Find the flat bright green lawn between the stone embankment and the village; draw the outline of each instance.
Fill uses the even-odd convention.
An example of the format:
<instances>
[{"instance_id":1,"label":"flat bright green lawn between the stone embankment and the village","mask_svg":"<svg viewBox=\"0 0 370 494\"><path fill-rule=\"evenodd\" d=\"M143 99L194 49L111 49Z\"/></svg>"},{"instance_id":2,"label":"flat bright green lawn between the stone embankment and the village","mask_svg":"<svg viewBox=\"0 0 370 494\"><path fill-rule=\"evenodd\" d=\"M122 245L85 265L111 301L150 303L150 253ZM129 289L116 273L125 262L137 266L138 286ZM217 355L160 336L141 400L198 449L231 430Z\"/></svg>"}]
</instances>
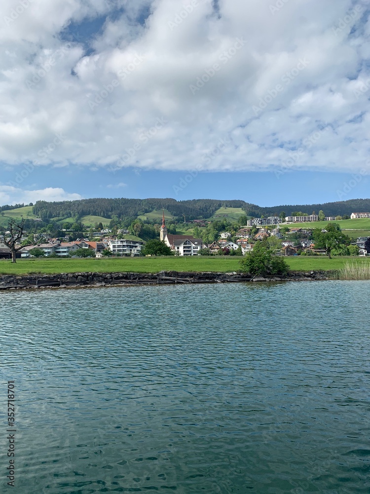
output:
<instances>
[{"instance_id":1,"label":"flat bright green lawn between the stone embankment and the village","mask_svg":"<svg viewBox=\"0 0 370 494\"><path fill-rule=\"evenodd\" d=\"M327 271L342 268L348 259L356 262L370 262L365 257L322 256L286 257L293 271ZM0 261L0 274L30 273L76 273L76 272L136 272L157 273L158 271L220 271L230 272L240 269L238 257L116 257L103 259L17 259L15 264Z\"/></svg>"}]
</instances>

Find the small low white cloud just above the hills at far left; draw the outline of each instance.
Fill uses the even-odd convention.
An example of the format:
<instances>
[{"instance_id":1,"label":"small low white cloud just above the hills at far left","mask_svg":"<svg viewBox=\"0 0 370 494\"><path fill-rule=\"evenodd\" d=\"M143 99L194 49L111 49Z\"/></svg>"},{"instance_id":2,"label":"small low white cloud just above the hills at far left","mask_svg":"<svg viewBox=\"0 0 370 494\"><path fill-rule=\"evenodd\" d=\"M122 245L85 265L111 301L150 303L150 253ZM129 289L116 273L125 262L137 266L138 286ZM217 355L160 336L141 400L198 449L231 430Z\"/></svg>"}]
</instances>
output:
<instances>
[{"instance_id":1,"label":"small low white cloud just above the hills at far left","mask_svg":"<svg viewBox=\"0 0 370 494\"><path fill-rule=\"evenodd\" d=\"M70 194L58 187L23 190L9 185L0 185L0 204L35 204L37 201L74 201L77 199L82 199L82 196Z\"/></svg>"}]
</instances>

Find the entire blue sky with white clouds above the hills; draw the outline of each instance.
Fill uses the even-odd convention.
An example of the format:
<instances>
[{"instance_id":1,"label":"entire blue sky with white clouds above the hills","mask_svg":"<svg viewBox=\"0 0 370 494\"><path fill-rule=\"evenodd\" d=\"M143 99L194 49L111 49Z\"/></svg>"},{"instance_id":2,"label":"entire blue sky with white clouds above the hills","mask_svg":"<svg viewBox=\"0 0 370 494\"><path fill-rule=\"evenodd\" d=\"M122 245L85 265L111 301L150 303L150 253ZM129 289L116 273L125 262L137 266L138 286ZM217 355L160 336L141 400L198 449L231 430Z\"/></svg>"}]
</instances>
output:
<instances>
[{"instance_id":1,"label":"entire blue sky with white clouds above the hills","mask_svg":"<svg viewBox=\"0 0 370 494\"><path fill-rule=\"evenodd\" d=\"M370 0L2 0L0 205L369 197Z\"/></svg>"}]
</instances>

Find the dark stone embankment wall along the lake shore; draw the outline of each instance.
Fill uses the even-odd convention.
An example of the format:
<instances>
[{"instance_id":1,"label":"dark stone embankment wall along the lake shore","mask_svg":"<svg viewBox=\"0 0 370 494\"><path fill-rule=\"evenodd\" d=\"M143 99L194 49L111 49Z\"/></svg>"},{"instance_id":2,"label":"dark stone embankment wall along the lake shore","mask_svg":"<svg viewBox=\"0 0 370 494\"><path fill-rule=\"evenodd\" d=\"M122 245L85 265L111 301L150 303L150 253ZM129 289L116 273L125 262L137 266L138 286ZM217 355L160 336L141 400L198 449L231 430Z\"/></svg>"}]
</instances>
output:
<instances>
[{"instance_id":1,"label":"dark stone embankment wall along the lake shore","mask_svg":"<svg viewBox=\"0 0 370 494\"><path fill-rule=\"evenodd\" d=\"M255 276L247 273L195 273L161 271L160 273L62 273L0 276L0 290L21 288L105 287L116 285L165 285L176 283L238 283L326 280L325 271L290 272L287 276Z\"/></svg>"}]
</instances>

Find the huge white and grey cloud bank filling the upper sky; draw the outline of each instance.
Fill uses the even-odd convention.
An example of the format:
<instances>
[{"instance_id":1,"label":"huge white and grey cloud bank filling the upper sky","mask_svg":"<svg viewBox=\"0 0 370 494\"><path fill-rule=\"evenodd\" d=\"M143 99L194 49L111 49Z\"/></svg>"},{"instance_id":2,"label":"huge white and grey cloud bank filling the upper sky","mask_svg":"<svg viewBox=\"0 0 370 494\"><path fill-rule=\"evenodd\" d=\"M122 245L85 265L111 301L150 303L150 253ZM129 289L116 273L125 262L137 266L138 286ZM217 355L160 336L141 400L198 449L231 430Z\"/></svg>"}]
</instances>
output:
<instances>
[{"instance_id":1,"label":"huge white and grey cloud bank filling the upper sky","mask_svg":"<svg viewBox=\"0 0 370 494\"><path fill-rule=\"evenodd\" d=\"M271 0L219 0L218 15L211 0L185 13L190 0L121 0L118 17L110 0L28 2L9 22L18 4L2 0L6 165L36 164L62 133L43 165L110 168L121 160L146 169L264 170L304 147L293 168L368 166L367 1L295 0L271 12ZM145 8L151 15L140 24ZM91 54L61 41L70 23L108 13ZM295 75L300 59L309 63ZM202 78L209 79L203 86ZM191 91L197 82L202 87ZM168 124L145 139L158 118ZM321 127L320 140L303 146ZM227 151L205 158L225 136Z\"/></svg>"}]
</instances>

